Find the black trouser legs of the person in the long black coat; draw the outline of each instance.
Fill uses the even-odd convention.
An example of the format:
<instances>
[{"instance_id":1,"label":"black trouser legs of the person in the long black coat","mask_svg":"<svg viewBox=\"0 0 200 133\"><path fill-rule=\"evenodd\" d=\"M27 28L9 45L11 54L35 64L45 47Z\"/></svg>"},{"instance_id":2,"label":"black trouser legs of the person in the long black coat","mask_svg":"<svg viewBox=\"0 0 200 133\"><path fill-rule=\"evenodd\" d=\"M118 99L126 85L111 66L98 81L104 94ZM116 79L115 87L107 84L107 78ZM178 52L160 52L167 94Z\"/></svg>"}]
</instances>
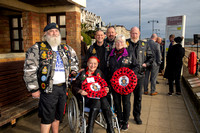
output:
<instances>
[{"instance_id":1,"label":"black trouser legs of the person in the long black coat","mask_svg":"<svg viewBox=\"0 0 200 133\"><path fill-rule=\"evenodd\" d=\"M174 80L173 79L168 79L169 81L169 92L174 93ZM181 85L180 85L180 78L175 79L175 85L176 85L176 92L181 92Z\"/></svg>"}]
</instances>

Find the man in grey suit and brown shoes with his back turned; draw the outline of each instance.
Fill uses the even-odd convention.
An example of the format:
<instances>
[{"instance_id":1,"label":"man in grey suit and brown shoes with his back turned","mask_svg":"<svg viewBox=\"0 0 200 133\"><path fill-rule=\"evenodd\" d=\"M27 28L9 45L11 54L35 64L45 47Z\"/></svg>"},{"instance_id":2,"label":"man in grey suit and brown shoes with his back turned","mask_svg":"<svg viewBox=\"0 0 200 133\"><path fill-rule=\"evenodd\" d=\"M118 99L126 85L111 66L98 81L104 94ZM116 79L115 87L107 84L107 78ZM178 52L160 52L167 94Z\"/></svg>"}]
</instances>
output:
<instances>
[{"instance_id":1,"label":"man in grey suit and brown shoes with his back turned","mask_svg":"<svg viewBox=\"0 0 200 133\"><path fill-rule=\"evenodd\" d=\"M151 39L147 42L149 47L151 48L151 51L154 56L154 61L150 67L146 69L145 72L145 80L144 80L144 94L148 94L148 84L149 84L149 76L151 73L150 81L151 81L151 93L150 95L157 95L158 92L156 92L156 79L159 72L159 67L161 64L161 53L160 53L160 45L156 43L157 35L152 34Z\"/></svg>"}]
</instances>

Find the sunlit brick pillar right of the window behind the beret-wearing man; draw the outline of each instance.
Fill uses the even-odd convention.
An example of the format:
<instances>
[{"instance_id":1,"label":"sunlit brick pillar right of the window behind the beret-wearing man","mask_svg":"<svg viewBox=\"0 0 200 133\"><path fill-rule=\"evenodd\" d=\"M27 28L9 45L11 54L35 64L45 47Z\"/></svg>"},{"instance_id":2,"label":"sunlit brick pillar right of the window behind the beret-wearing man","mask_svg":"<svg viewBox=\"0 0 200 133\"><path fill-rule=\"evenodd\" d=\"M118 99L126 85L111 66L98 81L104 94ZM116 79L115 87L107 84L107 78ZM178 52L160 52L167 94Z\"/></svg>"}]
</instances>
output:
<instances>
[{"instance_id":1,"label":"sunlit brick pillar right of the window behind the beret-wearing man","mask_svg":"<svg viewBox=\"0 0 200 133\"><path fill-rule=\"evenodd\" d=\"M66 12L67 44L77 53L81 61L81 21L80 12Z\"/></svg>"}]
</instances>

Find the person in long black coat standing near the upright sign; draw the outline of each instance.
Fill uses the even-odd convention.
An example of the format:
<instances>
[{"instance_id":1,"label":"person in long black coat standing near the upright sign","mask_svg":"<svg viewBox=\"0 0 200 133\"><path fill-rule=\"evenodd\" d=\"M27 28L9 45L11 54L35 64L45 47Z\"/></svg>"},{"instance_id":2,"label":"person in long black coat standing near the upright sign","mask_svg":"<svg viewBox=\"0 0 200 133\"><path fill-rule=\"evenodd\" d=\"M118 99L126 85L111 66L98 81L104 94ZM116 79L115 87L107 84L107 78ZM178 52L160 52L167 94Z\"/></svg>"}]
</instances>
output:
<instances>
[{"instance_id":1,"label":"person in long black coat standing near the upright sign","mask_svg":"<svg viewBox=\"0 0 200 133\"><path fill-rule=\"evenodd\" d=\"M165 70L164 77L169 81L169 93L168 95L172 95L174 93L173 89L173 81L175 80L176 84L176 94L181 95L180 88L180 77L181 77L181 68L183 65L183 57L185 55L185 49L182 47L181 42L182 37L176 37L174 41L177 44L172 45L167 53L167 66Z\"/></svg>"}]
</instances>

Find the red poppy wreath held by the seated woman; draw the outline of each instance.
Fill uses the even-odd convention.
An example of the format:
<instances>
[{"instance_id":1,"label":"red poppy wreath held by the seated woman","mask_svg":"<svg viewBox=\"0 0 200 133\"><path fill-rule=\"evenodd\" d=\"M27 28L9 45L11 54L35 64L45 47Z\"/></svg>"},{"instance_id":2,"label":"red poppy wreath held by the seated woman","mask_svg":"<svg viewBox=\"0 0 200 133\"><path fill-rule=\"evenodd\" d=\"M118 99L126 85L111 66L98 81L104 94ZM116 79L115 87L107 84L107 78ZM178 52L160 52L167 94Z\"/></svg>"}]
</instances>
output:
<instances>
[{"instance_id":1,"label":"red poppy wreath held by the seated woman","mask_svg":"<svg viewBox=\"0 0 200 133\"><path fill-rule=\"evenodd\" d=\"M94 78L95 82L88 83L87 78ZM107 83L104 79L98 76L90 76L87 77L83 83L82 83L82 90L86 91L88 93L87 97L89 98L101 98L107 95L105 87L107 87ZM98 91L92 90L91 86L92 84L98 84L100 86Z\"/></svg>"}]
</instances>

